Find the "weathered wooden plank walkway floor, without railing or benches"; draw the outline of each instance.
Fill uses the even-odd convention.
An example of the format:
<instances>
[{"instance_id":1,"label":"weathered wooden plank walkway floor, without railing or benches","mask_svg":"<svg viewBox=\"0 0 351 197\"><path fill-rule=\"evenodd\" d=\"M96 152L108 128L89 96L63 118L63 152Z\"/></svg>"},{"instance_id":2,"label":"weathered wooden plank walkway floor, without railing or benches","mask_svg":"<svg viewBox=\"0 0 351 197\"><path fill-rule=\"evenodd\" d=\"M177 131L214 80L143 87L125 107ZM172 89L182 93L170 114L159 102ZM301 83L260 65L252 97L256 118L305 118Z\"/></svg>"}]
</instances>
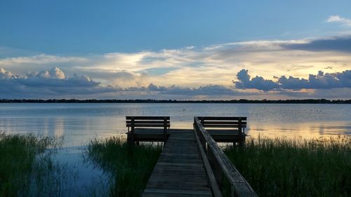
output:
<instances>
[{"instance_id":1,"label":"weathered wooden plank walkway floor, without railing or benches","mask_svg":"<svg viewBox=\"0 0 351 197\"><path fill-rule=\"evenodd\" d=\"M143 196L212 196L194 130L170 130Z\"/></svg>"}]
</instances>

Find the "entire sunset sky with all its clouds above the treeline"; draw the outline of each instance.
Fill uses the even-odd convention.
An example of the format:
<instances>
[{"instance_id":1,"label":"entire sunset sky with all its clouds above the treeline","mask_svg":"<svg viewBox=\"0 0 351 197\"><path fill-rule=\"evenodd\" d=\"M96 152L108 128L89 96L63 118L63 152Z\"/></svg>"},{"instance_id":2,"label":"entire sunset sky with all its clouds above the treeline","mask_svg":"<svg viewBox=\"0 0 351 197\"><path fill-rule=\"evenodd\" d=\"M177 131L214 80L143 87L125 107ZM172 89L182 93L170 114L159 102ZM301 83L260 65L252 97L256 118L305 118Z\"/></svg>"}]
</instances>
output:
<instances>
[{"instance_id":1,"label":"entire sunset sky with all its clouds above the treeline","mask_svg":"<svg viewBox=\"0 0 351 197\"><path fill-rule=\"evenodd\" d=\"M351 1L1 1L0 99L351 99Z\"/></svg>"}]
</instances>

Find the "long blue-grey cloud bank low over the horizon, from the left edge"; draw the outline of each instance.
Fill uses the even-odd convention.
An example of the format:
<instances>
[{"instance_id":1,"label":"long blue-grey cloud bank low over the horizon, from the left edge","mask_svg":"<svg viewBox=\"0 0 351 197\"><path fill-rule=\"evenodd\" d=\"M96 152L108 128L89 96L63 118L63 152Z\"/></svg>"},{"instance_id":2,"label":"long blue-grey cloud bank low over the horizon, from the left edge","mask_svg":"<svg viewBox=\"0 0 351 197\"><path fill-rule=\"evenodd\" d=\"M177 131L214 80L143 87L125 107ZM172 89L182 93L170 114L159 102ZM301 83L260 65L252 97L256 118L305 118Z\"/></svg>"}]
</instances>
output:
<instances>
[{"instance_id":1,"label":"long blue-grey cloud bank low over the horizon, from the left edge","mask_svg":"<svg viewBox=\"0 0 351 197\"><path fill-rule=\"evenodd\" d=\"M126 74L124 78L133 74ZM33 72L25 76L15 76L5 69L0 69L0 95L5 97L57 97L96 95L112 93L114 96L131 93L131 95L236 95L232 88L220 85L200 86L199 88L188 88L181 86L156 86L150 83L149 86L131 86L121 88L116 85L102 86L99 82L93 81L89 76L69 77L61 69L55 67L50 70Z\"/></svg>"}]
</instances>

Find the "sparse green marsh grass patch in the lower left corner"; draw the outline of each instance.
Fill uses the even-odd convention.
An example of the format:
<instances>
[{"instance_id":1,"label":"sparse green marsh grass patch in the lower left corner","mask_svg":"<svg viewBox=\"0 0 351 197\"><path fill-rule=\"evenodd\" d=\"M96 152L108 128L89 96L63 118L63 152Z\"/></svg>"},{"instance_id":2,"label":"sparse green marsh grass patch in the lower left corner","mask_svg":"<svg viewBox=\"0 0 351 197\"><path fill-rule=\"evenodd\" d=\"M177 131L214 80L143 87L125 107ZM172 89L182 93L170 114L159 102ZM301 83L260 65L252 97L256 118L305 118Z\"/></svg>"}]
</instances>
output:
<instances>
[{"instance_id":1,"label":"sparse green marsh grass patch in the lower left corner","mask_svg":"<svg viewBox=\"0 0 351 197\"><path fill-rule=\"evenodd\" d=\"M0 133L0 196L57 196L53 175L62 168L51 154L61 144L57 137Z\"/></svg>"}]
</instances>

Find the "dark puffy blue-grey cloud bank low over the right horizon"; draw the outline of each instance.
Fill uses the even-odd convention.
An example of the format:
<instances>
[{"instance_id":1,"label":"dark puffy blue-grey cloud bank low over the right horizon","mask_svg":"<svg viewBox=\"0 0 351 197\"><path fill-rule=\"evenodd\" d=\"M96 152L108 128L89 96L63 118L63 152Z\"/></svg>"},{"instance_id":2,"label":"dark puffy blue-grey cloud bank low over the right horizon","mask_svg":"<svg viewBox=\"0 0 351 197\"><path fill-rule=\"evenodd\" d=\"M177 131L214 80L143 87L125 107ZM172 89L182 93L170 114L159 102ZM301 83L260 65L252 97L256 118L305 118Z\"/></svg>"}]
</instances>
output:
<instances>
[{"instance_id":1,"label":"dark puffy blue-grey cloud bank low over the right horizon","mask_svg":"<svg viewBox=\"0 0 351 197\"><path fill-rule=\"evenodd\" d=\"M326 73L319 71L317 75L310 74L308 79L299 79L293 76L281 76L277 82L263 79L256 76L250 79L248 70L242 69L237 74L239 81L234 81L235 87L239 89L257 89L257 90L300 90L300 89L331 89L331 88L351 88L351 70L344 72Z\"/></svg>"}]
</instances>

